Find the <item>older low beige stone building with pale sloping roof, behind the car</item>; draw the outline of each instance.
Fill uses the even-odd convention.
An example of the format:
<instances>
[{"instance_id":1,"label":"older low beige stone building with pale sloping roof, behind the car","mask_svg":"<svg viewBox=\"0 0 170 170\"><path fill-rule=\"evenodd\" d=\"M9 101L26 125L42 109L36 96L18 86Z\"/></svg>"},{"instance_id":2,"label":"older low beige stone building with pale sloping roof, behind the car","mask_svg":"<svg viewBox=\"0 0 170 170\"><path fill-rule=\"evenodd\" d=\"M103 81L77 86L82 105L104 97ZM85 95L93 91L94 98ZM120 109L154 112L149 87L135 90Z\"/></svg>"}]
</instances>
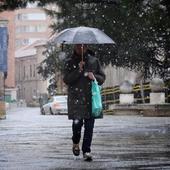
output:
<instances>
[{"instance_id":1,"label":"older low beige stone building with pale sloping roof, behind the car","mask_svg":"<svg viewBox=\"0 0 170 170\"><path fill-rule=\"evenodd\" d=\"M48 80L37 72L37 66L44 59L43 51L45 41L37 41L30 46L16 51L16 87L17 99L27 104L40 95L47 94Z\"/></svg>"}]
</instances>

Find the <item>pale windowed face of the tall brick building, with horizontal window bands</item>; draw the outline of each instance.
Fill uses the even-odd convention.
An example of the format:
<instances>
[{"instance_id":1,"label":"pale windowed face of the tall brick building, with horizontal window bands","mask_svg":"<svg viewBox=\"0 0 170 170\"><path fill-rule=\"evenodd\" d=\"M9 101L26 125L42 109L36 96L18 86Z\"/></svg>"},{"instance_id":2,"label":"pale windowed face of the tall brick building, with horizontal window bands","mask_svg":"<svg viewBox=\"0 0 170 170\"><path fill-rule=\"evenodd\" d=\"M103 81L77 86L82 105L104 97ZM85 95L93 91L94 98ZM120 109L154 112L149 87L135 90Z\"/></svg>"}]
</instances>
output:
<instances>
[{"instance_id":1,"label":"pale windowed face of the tall brick building, with horizontal window bands","mask_svg":"<svg viewBox=\"0 0 170 170\"><path fill-rule=\"evenodd\" d=\"M15 47L34 43L37 40L46 40L51 35L49 25L51 19L40 8L26 8L15 11Z\"/></svg>"}]
</instances>

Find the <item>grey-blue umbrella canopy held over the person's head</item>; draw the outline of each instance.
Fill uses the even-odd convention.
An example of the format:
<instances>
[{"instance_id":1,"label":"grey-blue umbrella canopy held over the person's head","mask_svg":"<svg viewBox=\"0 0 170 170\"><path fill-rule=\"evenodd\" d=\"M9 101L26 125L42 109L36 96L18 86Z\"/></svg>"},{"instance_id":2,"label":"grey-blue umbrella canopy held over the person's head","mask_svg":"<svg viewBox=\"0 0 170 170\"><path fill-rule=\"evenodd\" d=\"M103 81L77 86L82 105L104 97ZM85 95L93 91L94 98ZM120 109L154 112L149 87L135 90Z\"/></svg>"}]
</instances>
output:
<instances>
[{"instance_id":1,"label":"grey-blue umbrella canopy held over the person's head","mask_svg":"<svg viewBox=\"0 0 170 170\"><path fill-rule=\"evenodd\" d=\"M91 27L74 27L61 31L53 40L61 44L115 44L104 32Z\"/></svg>"}]
</instances>

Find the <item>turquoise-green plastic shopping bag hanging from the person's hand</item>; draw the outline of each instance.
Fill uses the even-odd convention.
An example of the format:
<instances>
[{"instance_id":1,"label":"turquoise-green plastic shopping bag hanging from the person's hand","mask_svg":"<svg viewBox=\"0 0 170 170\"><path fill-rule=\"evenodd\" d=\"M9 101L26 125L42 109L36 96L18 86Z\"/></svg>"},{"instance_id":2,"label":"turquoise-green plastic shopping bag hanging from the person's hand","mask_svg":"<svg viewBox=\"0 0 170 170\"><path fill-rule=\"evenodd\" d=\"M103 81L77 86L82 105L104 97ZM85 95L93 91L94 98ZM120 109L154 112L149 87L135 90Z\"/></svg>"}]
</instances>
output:
<instances>
[{"instance_id":1,"label":"turquoise-green plastic shopping bag hanging from the person's hand","mask_svg":"<svg viewBox=\"0 0 170 170\"><path fill-rule=\"evenodd\" d=\"M102 117L102 98L101 98L101 87L98 85L96 80L92 81L92 117Z\"/></svg>"}]
</instances>

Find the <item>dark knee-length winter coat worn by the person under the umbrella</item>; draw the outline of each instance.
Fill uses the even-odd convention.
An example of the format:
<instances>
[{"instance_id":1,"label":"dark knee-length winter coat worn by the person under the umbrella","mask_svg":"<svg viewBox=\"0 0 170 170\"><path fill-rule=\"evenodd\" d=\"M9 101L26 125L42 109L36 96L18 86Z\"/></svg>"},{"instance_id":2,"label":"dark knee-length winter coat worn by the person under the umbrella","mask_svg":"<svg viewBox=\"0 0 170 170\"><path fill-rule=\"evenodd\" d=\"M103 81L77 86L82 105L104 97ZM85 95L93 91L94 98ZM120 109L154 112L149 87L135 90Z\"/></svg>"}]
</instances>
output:
<instances>
[{"instance_id":1,"label":"dark knee-length winter coat worn by the person under the umbrella","mask_svg":"<svg viewBox=\"0 0 170 170\"><path fill-rule=\"evenodd\" d=\"M65 62L64 82L68 85L68 118L88 119L91 116L91 81L85 72L93 72L99 85L105 81L105 74L99 60L90 51L84 54L84 68L79 71L81 57L74 53Z\"/></svg>"}]
</instances>

